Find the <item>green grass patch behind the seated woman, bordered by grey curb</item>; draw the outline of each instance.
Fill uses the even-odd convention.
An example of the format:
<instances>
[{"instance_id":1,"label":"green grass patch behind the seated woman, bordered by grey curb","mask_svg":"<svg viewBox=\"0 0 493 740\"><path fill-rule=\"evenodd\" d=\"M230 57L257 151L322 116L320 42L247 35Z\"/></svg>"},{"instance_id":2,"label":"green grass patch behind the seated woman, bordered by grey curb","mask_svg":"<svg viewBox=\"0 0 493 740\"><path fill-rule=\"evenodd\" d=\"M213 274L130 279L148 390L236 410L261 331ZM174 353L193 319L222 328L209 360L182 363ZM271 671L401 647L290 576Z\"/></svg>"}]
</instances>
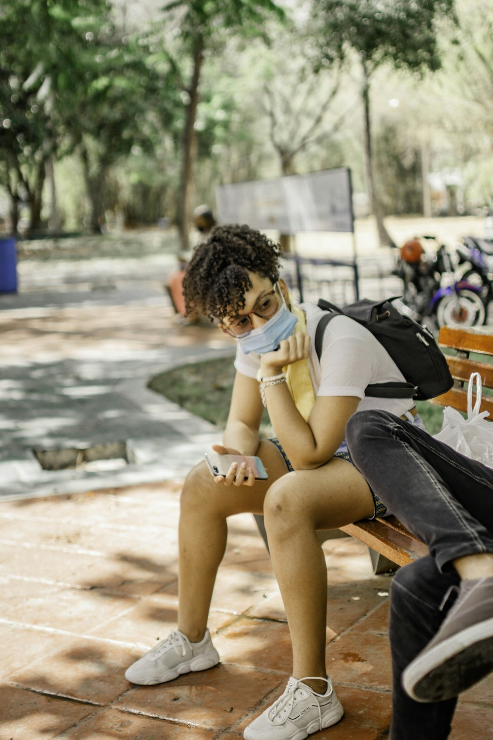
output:
<instances>
[{"instance_id":1,"label":"green grass patch behind the seated woman, bordered by grey curb","mask_svg":"<svg viewBox=\"0 0 493 740\"><path fill-rule=\"evenodd\" d=\"M192 414L224 429L228 420L235 369L231 357L205 360L155 375L149 388L160 393ZM416 403L424 425L430 434L441 430L443 409L427 401ZM269 425L267 412L262 420L262 431Z\"/></svg>"}]
</instances>

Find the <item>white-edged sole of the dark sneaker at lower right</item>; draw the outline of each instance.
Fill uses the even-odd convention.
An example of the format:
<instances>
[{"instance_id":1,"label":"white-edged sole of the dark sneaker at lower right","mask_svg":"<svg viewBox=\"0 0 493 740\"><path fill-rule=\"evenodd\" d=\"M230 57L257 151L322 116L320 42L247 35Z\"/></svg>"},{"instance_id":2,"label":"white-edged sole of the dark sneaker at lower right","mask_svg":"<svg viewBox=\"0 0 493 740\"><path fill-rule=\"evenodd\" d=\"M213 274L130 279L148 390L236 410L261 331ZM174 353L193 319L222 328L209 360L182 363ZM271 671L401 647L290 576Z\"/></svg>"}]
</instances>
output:
<instances>
[{"instance_id":1,"label":"white-edged sole of the dark sneaker at lower right","mask_svg":"<svg viewBox=\"0 0 493 740\"><path fill-rule=\"evenodd\" d=\"M440 642L408 665L402 684L415 702L452 699L493 670L493 619Z\"/></svg>"}]
</instances>

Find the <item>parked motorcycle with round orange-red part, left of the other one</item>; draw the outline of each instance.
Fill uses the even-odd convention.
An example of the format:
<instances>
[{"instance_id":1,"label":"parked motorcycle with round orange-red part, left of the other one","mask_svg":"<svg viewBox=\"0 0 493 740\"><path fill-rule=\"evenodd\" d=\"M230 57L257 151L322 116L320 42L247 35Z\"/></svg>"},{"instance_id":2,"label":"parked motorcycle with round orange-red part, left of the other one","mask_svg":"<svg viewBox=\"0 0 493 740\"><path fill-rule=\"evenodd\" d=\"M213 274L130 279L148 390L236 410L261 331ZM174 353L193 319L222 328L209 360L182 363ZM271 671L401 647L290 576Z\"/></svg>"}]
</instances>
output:
<instances>
[{"instance_id":1,"label":"parked motorcycle with round orange-red part, left of the other one","mask_svg":"<svg viewBox=\"0 0 493 740\"><path fill-rule=\"evenodd\" d=\"M434 240L425 236L422 239ZM438 246L429 257L414 239L401 247L400 258L393 271L404 283L402 312L418 323L426 319L440 326L482 326L486 320L486 302L482 288L464 277L456 279L446 246Z\"/></svg>"}]
</instances>

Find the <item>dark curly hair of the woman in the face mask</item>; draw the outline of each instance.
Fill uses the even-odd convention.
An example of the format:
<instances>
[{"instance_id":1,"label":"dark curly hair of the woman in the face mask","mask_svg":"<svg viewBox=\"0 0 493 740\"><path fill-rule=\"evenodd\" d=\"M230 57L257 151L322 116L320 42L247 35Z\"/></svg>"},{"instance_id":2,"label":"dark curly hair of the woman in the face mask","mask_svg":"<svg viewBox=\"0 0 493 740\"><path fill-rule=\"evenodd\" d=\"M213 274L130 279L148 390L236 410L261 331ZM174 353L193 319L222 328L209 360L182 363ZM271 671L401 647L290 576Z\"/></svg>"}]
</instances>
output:
<instances>
[{"instance_id":1,"label":"dark curly hair of the woman in the face mask","mask_svg":"<svg viewBox=\"0 0 493 740\"><path fill-rule=\"evenodd\" d=\"M249 226L216 226L200 243L183 279L187 315L197 309L223 319L231 307L245 307L245 292L252 283L248 272L279 280L281 246Z\"/></svg>"}]
</instances>

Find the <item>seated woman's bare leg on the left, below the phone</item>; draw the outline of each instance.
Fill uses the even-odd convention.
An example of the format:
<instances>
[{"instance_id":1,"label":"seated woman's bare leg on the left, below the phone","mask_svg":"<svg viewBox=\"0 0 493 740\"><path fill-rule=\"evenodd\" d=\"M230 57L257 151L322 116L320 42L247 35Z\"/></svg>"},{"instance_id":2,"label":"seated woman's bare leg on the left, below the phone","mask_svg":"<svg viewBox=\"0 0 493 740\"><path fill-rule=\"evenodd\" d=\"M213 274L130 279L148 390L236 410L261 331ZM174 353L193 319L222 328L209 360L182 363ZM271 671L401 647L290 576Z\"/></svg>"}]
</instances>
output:
<instances>
[{"instance_id":1,"label":"seated woman's bare leg on the left, below the phone","mask_svg":"<svg viewBox=\"0 0 493 740\"><path fill-rule=\"evenodd\" d=\"M285 462L273 443L261 442L257 454L269 478L257 480L253 488L214 482L205 462L191 471L183 486L178 530L178 629L191 642L199 642L207 626L217 568L226 546L226 517L245 511L262 514L269 485L286 474Z\"/></svg>"}]
</instances>

